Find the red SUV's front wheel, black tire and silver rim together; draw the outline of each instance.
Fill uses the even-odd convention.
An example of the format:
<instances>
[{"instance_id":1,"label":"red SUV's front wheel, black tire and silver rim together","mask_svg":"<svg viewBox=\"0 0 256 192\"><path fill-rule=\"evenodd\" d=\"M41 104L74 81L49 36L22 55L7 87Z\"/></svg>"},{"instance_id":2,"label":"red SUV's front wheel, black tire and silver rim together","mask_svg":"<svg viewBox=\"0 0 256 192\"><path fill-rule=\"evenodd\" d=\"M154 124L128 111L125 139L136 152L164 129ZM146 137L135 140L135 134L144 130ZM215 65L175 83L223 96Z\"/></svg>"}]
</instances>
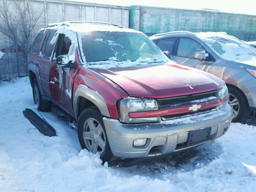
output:
<instances>
[{"instance_id":1,"label":"red SUV's front wheel, black tire and silver rim together","mask_svg":"<svg viewBox=\"0 0 256 192\"><path fill-rule=\"evenodd\" d=\"M95 106L86 108L80 114L78 139L82 149L99 153L103 163L112 158L103 116Z\"/></svg>"}]
</instances>

